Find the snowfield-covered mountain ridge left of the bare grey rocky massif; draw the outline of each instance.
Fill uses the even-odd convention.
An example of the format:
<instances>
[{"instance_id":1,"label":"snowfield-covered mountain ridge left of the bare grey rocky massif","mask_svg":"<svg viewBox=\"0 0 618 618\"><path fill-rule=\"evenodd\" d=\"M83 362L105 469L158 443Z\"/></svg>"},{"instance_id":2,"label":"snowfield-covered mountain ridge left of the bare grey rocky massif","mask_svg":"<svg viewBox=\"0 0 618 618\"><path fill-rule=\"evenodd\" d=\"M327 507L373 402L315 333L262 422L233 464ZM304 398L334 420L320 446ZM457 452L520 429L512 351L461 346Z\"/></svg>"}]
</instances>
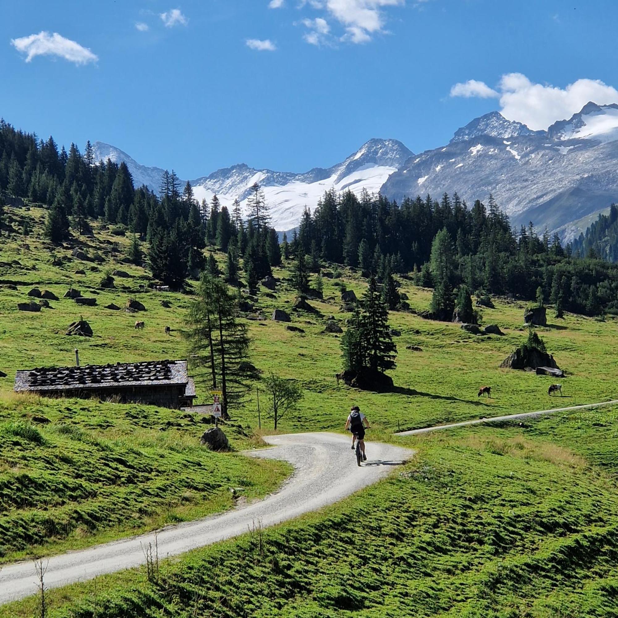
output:
<instances>
[{"instance_id":1,"label":"snowfield-covered mountain ridge left of the bare grey rocky massif","mask_svg":"<svg viewBox=\"0 0 618 618\"><path fill-rule=\"evenodd\" d=\"M142 166L127 153L108 144L96 142L94 148L97 161L107 160L108 157L116 163L124 161L135 186L145 184L158 192L163 169ZM191 184L195 197L200 201L210 201L216 194L224 206L231 206L236 199L245 206L250 187L259 182L270 206L273 225L284 231L297 226L305 206L313 210L324 192L330 188L337 192L350 189L357 195L363 189L377 193L389 175L397 171L410 156L413 156L412 151L397 140L373 139L343 163L328 169L315 167L303 174L295 174L258 170L239 164L191 180Z\"/></svg>"}]
</instances>

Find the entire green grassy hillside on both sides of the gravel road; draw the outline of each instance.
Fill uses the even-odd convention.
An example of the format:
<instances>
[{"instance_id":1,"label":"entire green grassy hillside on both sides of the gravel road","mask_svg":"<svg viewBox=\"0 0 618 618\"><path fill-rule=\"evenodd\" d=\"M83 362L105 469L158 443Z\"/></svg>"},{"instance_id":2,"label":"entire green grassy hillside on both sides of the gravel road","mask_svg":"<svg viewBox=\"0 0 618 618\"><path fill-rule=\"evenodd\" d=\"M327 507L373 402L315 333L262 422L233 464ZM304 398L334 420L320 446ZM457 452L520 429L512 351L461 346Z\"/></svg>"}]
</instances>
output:
<instances>
[{"instance_id":1,"label":"entire green grassy hillside on both sides of the gravel road","mask_svg":"<svg viewBox=\"0 0 618 618\"><path fill-rule=\"evenodd\" d=\"M289 472L286 465L205 451L198 438L206 426L197 415L12 394L15 370L70 365L75 347L82 363L186 357L180 331L191 297L140 287L148 271L122 261L128 239L100 224L94 239L78 239L78 245L102 261L82 261L72 256L75 243L58 248L41 239L42 209L7 211L15 230L28 218L33 233L25 240L4 237L0 248L0 370L8 374L0 378L0 560L229 508L233 486L245 488L248 498L275 488ZM85 274L75 273L82 269ZM129 277L115 276L115 289L102 289L101 278L113 269ZM502 337L473 336L457 324L395 311L397 391L359 392L337 385L340 339L323 330L330 315L345 326L342 284L357 296L366 284L350 269L329 269L340 276L324 279L324 301L310 301L315 312L291 309L295 293L282 268L274 273L282 280L274 298L261 289L254 319L247 321L252 362L303 387L298 412L282 418L281 431L341 431L357 403L374 426L371 439L412 446L417 459L331 509L266 531L261 549L248 535L167 564L158 583L137 570L53 591L50 616L94 616L95 596L99 618L618 616L616 411L392 436L397 428L618 396L618 322L567 314L538 329L567 371L565 397L550 398L551 378L499 368L527 334L523 303L499 298L496 309L483 309L484 323L498 324ZM34 286L60 300L40 313L18 312L17 302ZM97 305L62 298L70 286L95 296ZM402 291L414 310L428 307L430 290L404 279ZM146 311L136 316L104 308L112 302L124 308L129 297ZM305 332L269 320L274 308L289 311ZM64 334L80 315L93 328L91 339ZM136 319L145 321L144 331L135 331ZM492 387L492 399L476 396L483 384ZM203 401L206 387L197 386ZM255 445L255 399L248 397L232 417L225 431L236 449ZM262 430L271 428L263 415ZM0 617L31 616L34 603L2 607Z\"/></svg>"}]
</instances>

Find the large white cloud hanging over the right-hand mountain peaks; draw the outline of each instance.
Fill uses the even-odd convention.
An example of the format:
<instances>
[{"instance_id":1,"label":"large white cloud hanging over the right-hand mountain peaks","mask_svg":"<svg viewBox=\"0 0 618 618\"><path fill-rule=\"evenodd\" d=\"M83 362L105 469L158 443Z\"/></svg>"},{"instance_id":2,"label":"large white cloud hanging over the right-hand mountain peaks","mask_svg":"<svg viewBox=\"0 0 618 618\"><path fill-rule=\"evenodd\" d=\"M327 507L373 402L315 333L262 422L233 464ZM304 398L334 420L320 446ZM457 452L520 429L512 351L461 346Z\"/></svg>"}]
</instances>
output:
<instances>
[{"instance_id":1,"label":"large white cloud hanging over the right-hand mountain peaks","mask_svg":"<svg viewBox=\"0 0 618 618\"><path fill-rule=\"evenodd\" d=\"M468 87L470 83L475 86ZM488 94L491 92L494 95ZM499 99L502 116L535 130L547 129L557 120L570 118L588 101L599 105L618 103L618 90L601 80L583 78L559 88L533 83L521 73L502 75L496 90L475 80L455 84L451 96L495 96Z\"/></svg>"}]
</instances>

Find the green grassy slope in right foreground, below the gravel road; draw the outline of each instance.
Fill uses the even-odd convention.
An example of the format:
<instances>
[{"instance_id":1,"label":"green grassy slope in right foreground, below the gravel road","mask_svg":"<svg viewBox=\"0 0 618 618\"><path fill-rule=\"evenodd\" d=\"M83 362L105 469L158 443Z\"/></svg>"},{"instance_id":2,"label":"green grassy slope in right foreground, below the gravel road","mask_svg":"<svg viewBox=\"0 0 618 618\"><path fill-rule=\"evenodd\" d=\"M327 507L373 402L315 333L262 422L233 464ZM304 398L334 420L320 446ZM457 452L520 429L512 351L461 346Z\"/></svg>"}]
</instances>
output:
<instances>
[{"instance_id":1,"label":"green grassy slope in right foreground, below the gravel road","mask_svg":"<svg viewBox=\"0 0 618 618\"><path fill-rule=\"evenodd\" d=\"M614 409L410 438L415 462L261 545L52 591L49 615L616 616L617 431Z\"/></svg>"}]
</instances>

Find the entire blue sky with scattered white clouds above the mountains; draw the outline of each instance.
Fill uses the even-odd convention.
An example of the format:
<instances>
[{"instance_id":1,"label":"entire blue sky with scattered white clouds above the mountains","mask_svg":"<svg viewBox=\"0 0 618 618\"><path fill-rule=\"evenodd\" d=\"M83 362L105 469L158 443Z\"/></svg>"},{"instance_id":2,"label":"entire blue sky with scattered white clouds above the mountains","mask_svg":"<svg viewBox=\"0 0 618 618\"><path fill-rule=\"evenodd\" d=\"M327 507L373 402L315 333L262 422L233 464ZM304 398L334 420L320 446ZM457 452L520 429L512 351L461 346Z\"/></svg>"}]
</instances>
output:
<instances>
[{"instance_id":1,"label":"entire blue sky with scattered white clouds above the mountains","mask_svg":"<svg viewBox=\"0 0 618 618\"><path fill-rule=\"evenodd\" d=\"M418 153L493 109L538 129L587 97L618 102L615 0L0 0L0 11L0 116L185 178L234 163L326 167L371 137Z\"/></svg>"}]
</instances>

